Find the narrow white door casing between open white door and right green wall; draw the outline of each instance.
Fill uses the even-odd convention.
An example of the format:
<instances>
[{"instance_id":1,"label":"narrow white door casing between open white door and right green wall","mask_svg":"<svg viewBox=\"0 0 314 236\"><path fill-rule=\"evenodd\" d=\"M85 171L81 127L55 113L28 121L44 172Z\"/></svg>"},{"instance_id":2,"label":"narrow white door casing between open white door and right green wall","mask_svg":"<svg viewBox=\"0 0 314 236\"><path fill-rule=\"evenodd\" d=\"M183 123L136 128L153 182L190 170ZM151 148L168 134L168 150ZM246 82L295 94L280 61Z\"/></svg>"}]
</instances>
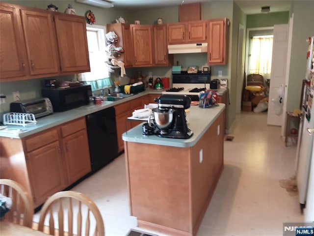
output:
<instances>
[{"instance_id":1,"label":"narrow white door casing between open white door and right green wall","mask_svg":"<svg viewBox=\"0 0 314 236\"><path fill-rule=\"evenodd\" d=\"M287 68L286 68L286 80L284 87L284 104L283 104L283 120L281 126L281 136L283 140L286 136L286 122L287 122L287 100L288 100L288 84L289 84L289 71L290 71L290 58L291 58L291 44L292 44L292 29L293 29L293 13L289 20L289 35L288 35L288 54L287 54Z\"/></svg>"}]
</instances>

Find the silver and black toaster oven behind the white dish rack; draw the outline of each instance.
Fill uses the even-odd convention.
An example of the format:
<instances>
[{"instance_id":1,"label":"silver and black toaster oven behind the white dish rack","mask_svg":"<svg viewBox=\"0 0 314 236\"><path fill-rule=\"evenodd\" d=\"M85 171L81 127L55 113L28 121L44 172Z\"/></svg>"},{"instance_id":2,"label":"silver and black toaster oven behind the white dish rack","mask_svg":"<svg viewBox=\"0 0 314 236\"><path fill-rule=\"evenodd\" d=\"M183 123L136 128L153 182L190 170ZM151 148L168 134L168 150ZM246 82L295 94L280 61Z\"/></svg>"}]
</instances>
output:
<instances>
[{"instance_id":1,"label":"silver and black toaster oven behind the white dish rack","mask_svg":"<svg viewBox=\"0 0 314 236\"><path fill-rule=\"evenodd\" d=\"M32 98L10 103L10 112L34 114L35 118L44 117L53 113L49 98Z\"/></svg>"}]
</instances>

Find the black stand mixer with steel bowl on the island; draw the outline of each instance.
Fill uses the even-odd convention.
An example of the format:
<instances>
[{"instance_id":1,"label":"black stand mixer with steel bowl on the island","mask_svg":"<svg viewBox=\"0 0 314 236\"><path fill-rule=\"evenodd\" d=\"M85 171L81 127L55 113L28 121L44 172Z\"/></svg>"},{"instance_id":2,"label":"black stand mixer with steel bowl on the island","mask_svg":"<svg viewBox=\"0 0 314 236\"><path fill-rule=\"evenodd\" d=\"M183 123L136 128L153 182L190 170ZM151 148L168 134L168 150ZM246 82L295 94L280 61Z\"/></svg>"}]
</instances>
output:
<instances>
[{"instance_id":1,"label":"black stand mixer with steel bowl on the island","mask_svg":"<svg viewBox=\"0 0 314 236\"><path fill-rule=\"evenodd\" d=\"M191 99L187 95L164 94L156 99L158 108L154 108L156 135L163 138L188 139L193 132L187 127L185 109L190 107Z\"/></svg>"}]
</instances>

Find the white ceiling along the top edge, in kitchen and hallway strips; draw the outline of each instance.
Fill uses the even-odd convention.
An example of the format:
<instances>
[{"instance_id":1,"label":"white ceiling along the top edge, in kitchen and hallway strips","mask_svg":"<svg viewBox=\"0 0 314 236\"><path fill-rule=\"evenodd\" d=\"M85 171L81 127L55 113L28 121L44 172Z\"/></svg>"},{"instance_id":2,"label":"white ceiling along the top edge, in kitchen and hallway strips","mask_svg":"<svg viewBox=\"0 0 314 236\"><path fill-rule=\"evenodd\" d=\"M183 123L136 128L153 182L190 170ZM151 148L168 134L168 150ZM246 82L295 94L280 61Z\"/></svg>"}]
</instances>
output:
<instances>
[{"instance_id":1,"label":"white ceiling along the top edge, in kitchen and hallway strips","mask_svg":"<svg viewBox=\"0 0 314 236\"><path fill-rule=\"evenodd\" d=\"M195 2L210 2L212 0L107 0L115 7L130 10L178 6ZM270 12L289 11L292 0L235 0L245 14L259 14L262 6L270 6Z\"/></svg>"}]
</instances>

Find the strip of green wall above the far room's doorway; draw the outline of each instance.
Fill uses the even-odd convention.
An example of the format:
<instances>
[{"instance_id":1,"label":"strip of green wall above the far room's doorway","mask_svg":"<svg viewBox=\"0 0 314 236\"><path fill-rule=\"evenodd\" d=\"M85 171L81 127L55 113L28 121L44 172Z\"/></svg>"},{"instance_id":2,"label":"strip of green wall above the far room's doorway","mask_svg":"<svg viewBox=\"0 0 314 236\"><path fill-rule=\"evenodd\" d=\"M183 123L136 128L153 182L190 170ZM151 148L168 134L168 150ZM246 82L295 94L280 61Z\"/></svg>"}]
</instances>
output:
<instances>
[{"instance_id":1,"label":"strip of green wall above the far room's doorway","mask_svg":"<svg viewBox=\"0 0 314 236\"><path fill-rule=\"evenodd\" d=\"M268 27L279 24L288 24L288 22L289 22L288 11L267 14L254 14L247 15L246 28Z\"/></svg>"}]
</instances>

